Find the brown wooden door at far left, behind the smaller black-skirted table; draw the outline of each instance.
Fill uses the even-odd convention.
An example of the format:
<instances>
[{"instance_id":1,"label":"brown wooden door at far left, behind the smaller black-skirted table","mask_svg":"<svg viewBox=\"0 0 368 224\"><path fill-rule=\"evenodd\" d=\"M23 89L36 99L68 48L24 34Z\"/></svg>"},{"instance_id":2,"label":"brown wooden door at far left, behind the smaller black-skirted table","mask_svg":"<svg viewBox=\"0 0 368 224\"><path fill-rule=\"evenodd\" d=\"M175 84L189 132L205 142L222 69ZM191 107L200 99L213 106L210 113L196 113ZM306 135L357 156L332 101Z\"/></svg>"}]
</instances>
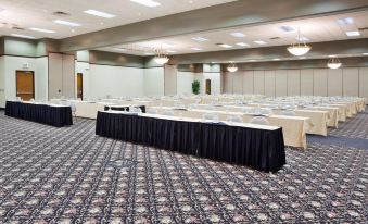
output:
<instances>
[{"instance_id":1,"label":"brown wooden door at far left, behind the smaller black-skirted table","mask_svg":"<svg viewBox=\"0 0 368 224\"><path fill-rule=\"evenodd\" d=\"M35 99L34 71L16 71L16 97L24 101Z\"/></svg>"}]
</instances>

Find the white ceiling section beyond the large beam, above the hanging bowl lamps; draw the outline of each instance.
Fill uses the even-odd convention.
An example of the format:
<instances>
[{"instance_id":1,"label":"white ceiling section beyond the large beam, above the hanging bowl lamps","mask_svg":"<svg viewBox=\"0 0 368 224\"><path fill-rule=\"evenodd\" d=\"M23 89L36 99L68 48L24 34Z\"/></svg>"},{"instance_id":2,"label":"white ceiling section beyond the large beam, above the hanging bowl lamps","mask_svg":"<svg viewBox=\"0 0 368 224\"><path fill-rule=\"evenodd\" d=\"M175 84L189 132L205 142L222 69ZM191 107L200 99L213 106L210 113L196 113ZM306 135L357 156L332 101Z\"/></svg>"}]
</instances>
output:
<instances>
[{"instance_id":1,"label":"white ceiling section beyond the large beam, above the hanging bowl lamps","mask_svg":"<svg viewBox=\"0 0 368 224\"><path fill-rule=\"evenodd\" d=\"M339 18L352 17L354 24L352 25L340 25L338 23ZM360 11L354 13L344 13L314 18L304 18L295 20L291 22L274 23L251 27L238 27L231 29L223 29L216 32L205 32L193 35L186 36L176 36L164 39L136 42L129 46L114 46L107 48L101 48L99 50L119 52L119 53L129 53L137 55L149 54L150 49L152 48L163 48L164 50L175 51L167 52L168 54L181 54L181 53L198 53L206 51L219 51L219 50L233 50L233 49L243 49L243 48L259 48L259 47L269 47L269 46L283 46L290 45L296 41L296 32L282 32L279 29L280 26L292 26L300 27L301 36L307 37L309 40L306 42L321 42L321 41L333 41L333 40L344 40L344 39L356 39L356 38L368 38L368 30L360 32L360 36L357 37L347 37L345 32L357 30L358 28L368 27L368 11ZM245 37L233 37L230 34L234 32L241 32ZM194 41L193 37L203 37L208 39L208 41ZM279 37L279 39L270 39L274 37ZM264 40L267 45L259 46L254 43L255 40ZM240 47L236 43L244 42L250 45L249 47ZM221 48L216 46L216 43L227 43L233 46L232 48ZM115 48L127 48L127 49L138 49L138 50L116 50ZM201 48L203 50L196 51L191 48ZM144 50L148 50L144 52Z\"/></svg>"}]
</instances>

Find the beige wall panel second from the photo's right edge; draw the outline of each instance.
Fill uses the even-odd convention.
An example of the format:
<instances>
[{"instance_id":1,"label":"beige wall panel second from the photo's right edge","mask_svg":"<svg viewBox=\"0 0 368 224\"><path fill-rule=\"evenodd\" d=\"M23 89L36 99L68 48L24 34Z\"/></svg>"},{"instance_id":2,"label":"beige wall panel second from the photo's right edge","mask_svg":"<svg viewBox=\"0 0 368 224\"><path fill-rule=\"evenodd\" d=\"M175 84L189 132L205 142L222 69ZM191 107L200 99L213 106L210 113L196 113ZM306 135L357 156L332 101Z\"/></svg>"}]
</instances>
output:
<instances>
[{"instance_id":1,"label":"beige wall panel second from the photo's right edge","mask_svg":"<svg viewBox=\"0 0 368 224\"><path fill-rule=\"evenodd\" d=\"M343 69L343 95L358 96L359 95L359 70Z\"/></svg>"}]
</instances>

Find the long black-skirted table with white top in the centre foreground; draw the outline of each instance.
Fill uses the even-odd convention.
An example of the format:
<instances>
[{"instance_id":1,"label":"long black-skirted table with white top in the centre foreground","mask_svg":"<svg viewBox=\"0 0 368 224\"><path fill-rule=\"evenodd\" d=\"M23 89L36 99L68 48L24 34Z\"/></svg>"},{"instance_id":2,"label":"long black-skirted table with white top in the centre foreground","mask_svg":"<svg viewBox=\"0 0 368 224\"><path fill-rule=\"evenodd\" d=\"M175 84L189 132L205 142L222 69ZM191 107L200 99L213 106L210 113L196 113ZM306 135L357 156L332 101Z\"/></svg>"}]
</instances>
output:
<instances>
[{"instance_id":1,"label":"long black-skirted table with white top in the centre foreground","mask_svg":"<svg viewBox=\"0 0 368 224\"><path fill-rule=\"evenodd\" d=\"M96 134L264 172L277 172L285 164L280 127L254 128L112 111L98 112Z\"/></svg>"}]
</instances>

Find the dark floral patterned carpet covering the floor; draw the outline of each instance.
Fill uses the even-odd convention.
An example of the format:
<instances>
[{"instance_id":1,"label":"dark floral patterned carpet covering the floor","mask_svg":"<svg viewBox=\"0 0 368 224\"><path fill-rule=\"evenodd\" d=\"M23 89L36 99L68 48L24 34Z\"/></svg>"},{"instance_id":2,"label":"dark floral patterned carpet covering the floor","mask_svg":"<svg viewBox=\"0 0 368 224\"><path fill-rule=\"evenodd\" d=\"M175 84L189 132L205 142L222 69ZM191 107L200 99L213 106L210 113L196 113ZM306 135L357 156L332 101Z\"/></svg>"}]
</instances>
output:
<instances>
[{"instance_id":1,"label":"dark floral patterned carpet covering the floor","mask_svg":"<svg viewBox=\"0 0 368 224\"><path fill-rule=\"evenodd\" d=\"M261 173L0 112L0 223L368 223L368 150L310 142L287 161Z\"/></svg>"}]
</instances>

